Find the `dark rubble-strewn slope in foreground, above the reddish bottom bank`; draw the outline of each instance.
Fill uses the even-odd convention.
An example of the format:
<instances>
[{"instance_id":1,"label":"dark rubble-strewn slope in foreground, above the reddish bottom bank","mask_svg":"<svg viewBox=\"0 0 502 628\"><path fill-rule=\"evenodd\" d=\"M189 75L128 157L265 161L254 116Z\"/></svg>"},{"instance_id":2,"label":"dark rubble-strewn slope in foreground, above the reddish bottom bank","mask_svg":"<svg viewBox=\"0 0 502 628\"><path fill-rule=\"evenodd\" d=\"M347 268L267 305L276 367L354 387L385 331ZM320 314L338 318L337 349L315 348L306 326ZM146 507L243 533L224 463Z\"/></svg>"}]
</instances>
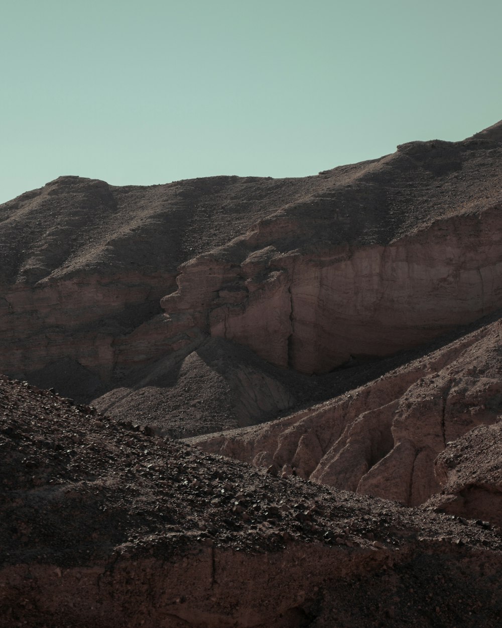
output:
<instances>
[{"instance_id":1,"label":"dark rubble-strewn slope in foreground, above the reddish bottom bank","mask_svg":"<svg viewBox=\"0 0 502 628\"><path fill-rule=\"evenodd\" d=\"M141 549L144 536L154 541L158 534L159 541L173 534L171 549L196 534L263 551L284 546L285 538L346 536L348 522L350 538L361 544L369 531L380 541L398 542L399 530L417 521L420 534L430 538L461 534L463 543L474 544L485 538L483 526L474 523L459 528L454 517L429 516L298 478L278 479L180 441L149 436L148 430L26 382L4 376L0 382L8 563L34 558L35 552L64 564L88 563L124 543ZM397 536L386 541L389 534ZM502 548L497 536L486 538Z\"/></svg>"}]
</instances>

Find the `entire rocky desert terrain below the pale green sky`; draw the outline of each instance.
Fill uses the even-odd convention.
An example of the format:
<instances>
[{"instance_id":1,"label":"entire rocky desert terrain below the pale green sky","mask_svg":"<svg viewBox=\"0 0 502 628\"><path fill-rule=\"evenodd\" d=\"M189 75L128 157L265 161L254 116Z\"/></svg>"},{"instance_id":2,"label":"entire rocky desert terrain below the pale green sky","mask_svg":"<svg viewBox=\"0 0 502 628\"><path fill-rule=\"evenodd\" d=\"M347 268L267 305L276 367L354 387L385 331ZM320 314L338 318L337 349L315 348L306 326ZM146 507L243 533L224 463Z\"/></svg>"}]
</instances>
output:
<instances>
[{"instance_id":1,"label":"entire rocky desert terrain below the pale green sky","mask_svg":"<svg viewBox=\"0 0 502 628\"><path fill-rule=\"evenodd\" d=\"M0 625L500 625L501 166L0 205Z\"/></svg>"}]
</instances>

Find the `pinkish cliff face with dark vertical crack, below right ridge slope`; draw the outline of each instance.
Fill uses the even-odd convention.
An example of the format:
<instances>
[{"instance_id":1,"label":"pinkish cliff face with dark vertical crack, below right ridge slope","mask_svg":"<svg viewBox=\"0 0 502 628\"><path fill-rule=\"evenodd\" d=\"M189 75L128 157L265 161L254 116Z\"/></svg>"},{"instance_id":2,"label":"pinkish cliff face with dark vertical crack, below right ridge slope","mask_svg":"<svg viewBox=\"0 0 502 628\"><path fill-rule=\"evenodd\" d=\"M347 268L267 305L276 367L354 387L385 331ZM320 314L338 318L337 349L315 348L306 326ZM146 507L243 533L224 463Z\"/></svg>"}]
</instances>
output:
<instances>
[{"instance_id":1,"label":"pinkish cliff face with dark vertical crack, below right ridge slope","mask_svg":"<svg viewBox=\"0 0 502 628\"><path fill-rule=\"evenodd\" d=\"M272 364L325 372L351 355L424 343L501 307L500 227L495 205L387 246L280 254L271 245L253 251L250 237L184 266L178 291L161 305L176 325L195 323Z\"/></svg>"}]
</instances>

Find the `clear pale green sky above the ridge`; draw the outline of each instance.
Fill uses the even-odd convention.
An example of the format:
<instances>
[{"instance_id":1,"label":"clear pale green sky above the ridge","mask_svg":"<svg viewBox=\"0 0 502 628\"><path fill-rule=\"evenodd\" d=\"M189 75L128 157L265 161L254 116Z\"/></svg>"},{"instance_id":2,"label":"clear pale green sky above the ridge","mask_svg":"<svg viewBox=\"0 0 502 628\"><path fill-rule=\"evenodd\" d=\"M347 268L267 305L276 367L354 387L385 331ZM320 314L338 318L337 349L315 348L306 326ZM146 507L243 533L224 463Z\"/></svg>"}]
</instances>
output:
<instances>
[{"instance_id":1,"label":"clear pale green sky above the ridge","mask_svg":"<svg viewBox=\"0 0 502 628\"><path fill-rule=\"evenodd\" d=\"M0 203L307 176L502 119L500 0L3 0Z\"/></svg>"}]
</instances>

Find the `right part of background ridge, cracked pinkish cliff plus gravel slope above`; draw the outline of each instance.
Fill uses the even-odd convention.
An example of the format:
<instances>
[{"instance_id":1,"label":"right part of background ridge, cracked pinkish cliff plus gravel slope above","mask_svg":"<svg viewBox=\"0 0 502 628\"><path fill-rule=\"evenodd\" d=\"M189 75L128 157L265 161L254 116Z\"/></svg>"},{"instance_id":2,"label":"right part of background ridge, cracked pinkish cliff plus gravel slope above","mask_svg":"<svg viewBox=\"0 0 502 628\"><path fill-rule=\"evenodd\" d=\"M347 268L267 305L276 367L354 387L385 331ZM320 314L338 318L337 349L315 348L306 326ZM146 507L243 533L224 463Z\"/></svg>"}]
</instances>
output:
<instances>
[{"instance_id":1,"label":"right part of background ridge, cracked pinkish cliff plus gravel slope above","mask_svg":"<svg viewBox=\"0 0 502 628\"><path fill-rule=\"evenodd\" d=\"M498 309L502 148L485 137L400 146L184 264L178 291L161 301L174 328L200 327L312 373ZM476 197L479 166L490 183Z\"/></svg>"}]
</instances>

